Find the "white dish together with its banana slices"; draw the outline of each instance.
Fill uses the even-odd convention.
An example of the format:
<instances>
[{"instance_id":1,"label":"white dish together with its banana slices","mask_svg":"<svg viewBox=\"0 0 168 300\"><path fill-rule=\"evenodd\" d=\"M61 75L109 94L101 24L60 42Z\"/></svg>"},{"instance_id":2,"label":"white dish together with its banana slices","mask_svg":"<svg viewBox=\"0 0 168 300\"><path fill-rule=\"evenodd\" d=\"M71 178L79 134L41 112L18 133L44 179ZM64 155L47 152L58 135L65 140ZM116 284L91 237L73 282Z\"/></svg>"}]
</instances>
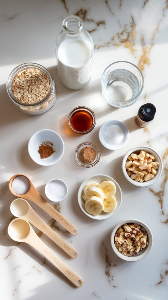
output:
<instances>
[{"instance_id":1,"label":"white dish together with its banana slices","mask_svg":"<svg viewBox=\"0 0 168 300\"><path fill-rule=\"evenodd\" d=\"M79 206L92 219L104 220L112 217L119 210L121 202L121 188L110 176L91 176L78 190Z\"/></svg>"}]
</instances>

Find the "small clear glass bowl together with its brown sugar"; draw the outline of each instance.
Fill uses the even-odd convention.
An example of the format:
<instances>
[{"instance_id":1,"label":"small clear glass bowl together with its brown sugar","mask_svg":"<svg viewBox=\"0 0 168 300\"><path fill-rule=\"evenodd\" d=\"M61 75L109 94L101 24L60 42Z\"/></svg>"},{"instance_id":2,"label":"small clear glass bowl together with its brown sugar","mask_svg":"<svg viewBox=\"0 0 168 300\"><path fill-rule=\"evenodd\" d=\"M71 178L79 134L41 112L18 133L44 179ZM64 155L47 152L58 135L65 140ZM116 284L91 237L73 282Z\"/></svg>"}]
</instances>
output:
<instances>
[{"instance_id":1,"label":"small clear glass bowl together with its brown sugar","mask_svg":"<svg viewBox=\"0 0 168 300\"><path fill-rule=\"evenodd\" d=\"M82 167L93 167L100 160L100 151L93 143L81 143L75 150L75 160Z\"/></svg>"}]
</instances>

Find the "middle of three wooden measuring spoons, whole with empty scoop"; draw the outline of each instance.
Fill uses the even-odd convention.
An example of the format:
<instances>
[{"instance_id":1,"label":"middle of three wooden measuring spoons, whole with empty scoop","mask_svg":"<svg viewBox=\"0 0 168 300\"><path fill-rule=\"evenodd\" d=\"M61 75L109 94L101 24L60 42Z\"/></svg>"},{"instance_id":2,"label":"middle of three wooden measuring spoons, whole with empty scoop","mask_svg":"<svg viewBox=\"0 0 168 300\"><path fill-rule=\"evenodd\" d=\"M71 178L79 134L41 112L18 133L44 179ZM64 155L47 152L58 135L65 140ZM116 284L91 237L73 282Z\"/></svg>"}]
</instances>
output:
<instances>
[{"instance_id":1,"label":"middle of three wooden measuring spoons, whole with empty scoop","mask_svg":"<svg viewBox=\"0 0 168 300\"><path fill-rule=\"evenodd\" d=\"M78 255L78 252L75 249L66 243L63 238L61 238L38 216L38 214L36 214L27 200L23 198L17 198L13 200L13 202L10 204L10 211L15 217L22 217L22 219L27 220L40 229L71 257L76 257Z\"/></svg>"}]
</instances>

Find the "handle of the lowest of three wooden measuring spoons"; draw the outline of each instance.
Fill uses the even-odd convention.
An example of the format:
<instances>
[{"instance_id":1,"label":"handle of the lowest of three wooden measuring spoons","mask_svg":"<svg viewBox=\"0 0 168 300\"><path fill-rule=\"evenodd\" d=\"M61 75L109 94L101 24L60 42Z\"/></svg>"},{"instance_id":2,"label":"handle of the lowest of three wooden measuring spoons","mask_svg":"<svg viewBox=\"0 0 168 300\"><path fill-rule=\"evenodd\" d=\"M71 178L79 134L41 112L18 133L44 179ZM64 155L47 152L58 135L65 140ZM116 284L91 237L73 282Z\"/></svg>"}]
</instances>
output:
<instances>
[{"instance_id":1,"label":"handle of the lowest of three wooden measuring spoons","mask_svg":"<svg viewBox=\"0 0 168 300\"><path fill-rule=\"evenodd\" d=\"M50 262L52 262L55 267L60 270L75 286L82 286L83 280L74 273L64 262L59 259L55 253L53 253L44 243L38 238L38 236L31 231L31 235L25 239L25 242L37 249L41 254L43 254Z\"/></svg>"}]
</instances>

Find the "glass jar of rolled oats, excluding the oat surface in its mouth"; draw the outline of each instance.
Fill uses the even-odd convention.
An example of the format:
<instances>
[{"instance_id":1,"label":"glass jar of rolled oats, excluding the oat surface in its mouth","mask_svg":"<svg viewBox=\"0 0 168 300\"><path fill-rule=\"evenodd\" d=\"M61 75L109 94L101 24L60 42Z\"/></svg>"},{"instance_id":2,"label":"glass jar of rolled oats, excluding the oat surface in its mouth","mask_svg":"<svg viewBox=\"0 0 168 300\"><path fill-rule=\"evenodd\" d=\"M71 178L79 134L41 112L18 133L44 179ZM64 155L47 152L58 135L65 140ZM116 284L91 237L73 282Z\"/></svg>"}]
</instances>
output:
<instances>
[{"instance_id":1,"label":"glass jar of rolled oats, excluding the oat surface in its mouth","mask_svg":"<svg viewBox=\"0 0 168 300\"><path fill-rule=\"evenodd\" d=\"M13 83L13 79L15 78L16 74L22 70L29 69L29 68L38 69L38 70L43 71L50 80L49 93L42 100L40 100L36 103L32 103L32 104L28 104L28 103L19 101L18 99L16 99L14 97L13 92L12 92L12 83ZM51 74L49 73L49 71L45 67L41 66L40 64L35 64L35 63L30 63L30 62L25 63L25 64L20 64L19 66L17 66L16 68L14 68L12 70L12 72L10 73L10 75L7 79L7 93L9 95L10 99L12 100L12 102L19 108L19 110L21 110L23 113L26 113L28 115L40 115L42 113L45 113L47 110L49 110L55 104L55 101L57 98L55 82L54 82Z\"/></svg>"}]
</instances>

